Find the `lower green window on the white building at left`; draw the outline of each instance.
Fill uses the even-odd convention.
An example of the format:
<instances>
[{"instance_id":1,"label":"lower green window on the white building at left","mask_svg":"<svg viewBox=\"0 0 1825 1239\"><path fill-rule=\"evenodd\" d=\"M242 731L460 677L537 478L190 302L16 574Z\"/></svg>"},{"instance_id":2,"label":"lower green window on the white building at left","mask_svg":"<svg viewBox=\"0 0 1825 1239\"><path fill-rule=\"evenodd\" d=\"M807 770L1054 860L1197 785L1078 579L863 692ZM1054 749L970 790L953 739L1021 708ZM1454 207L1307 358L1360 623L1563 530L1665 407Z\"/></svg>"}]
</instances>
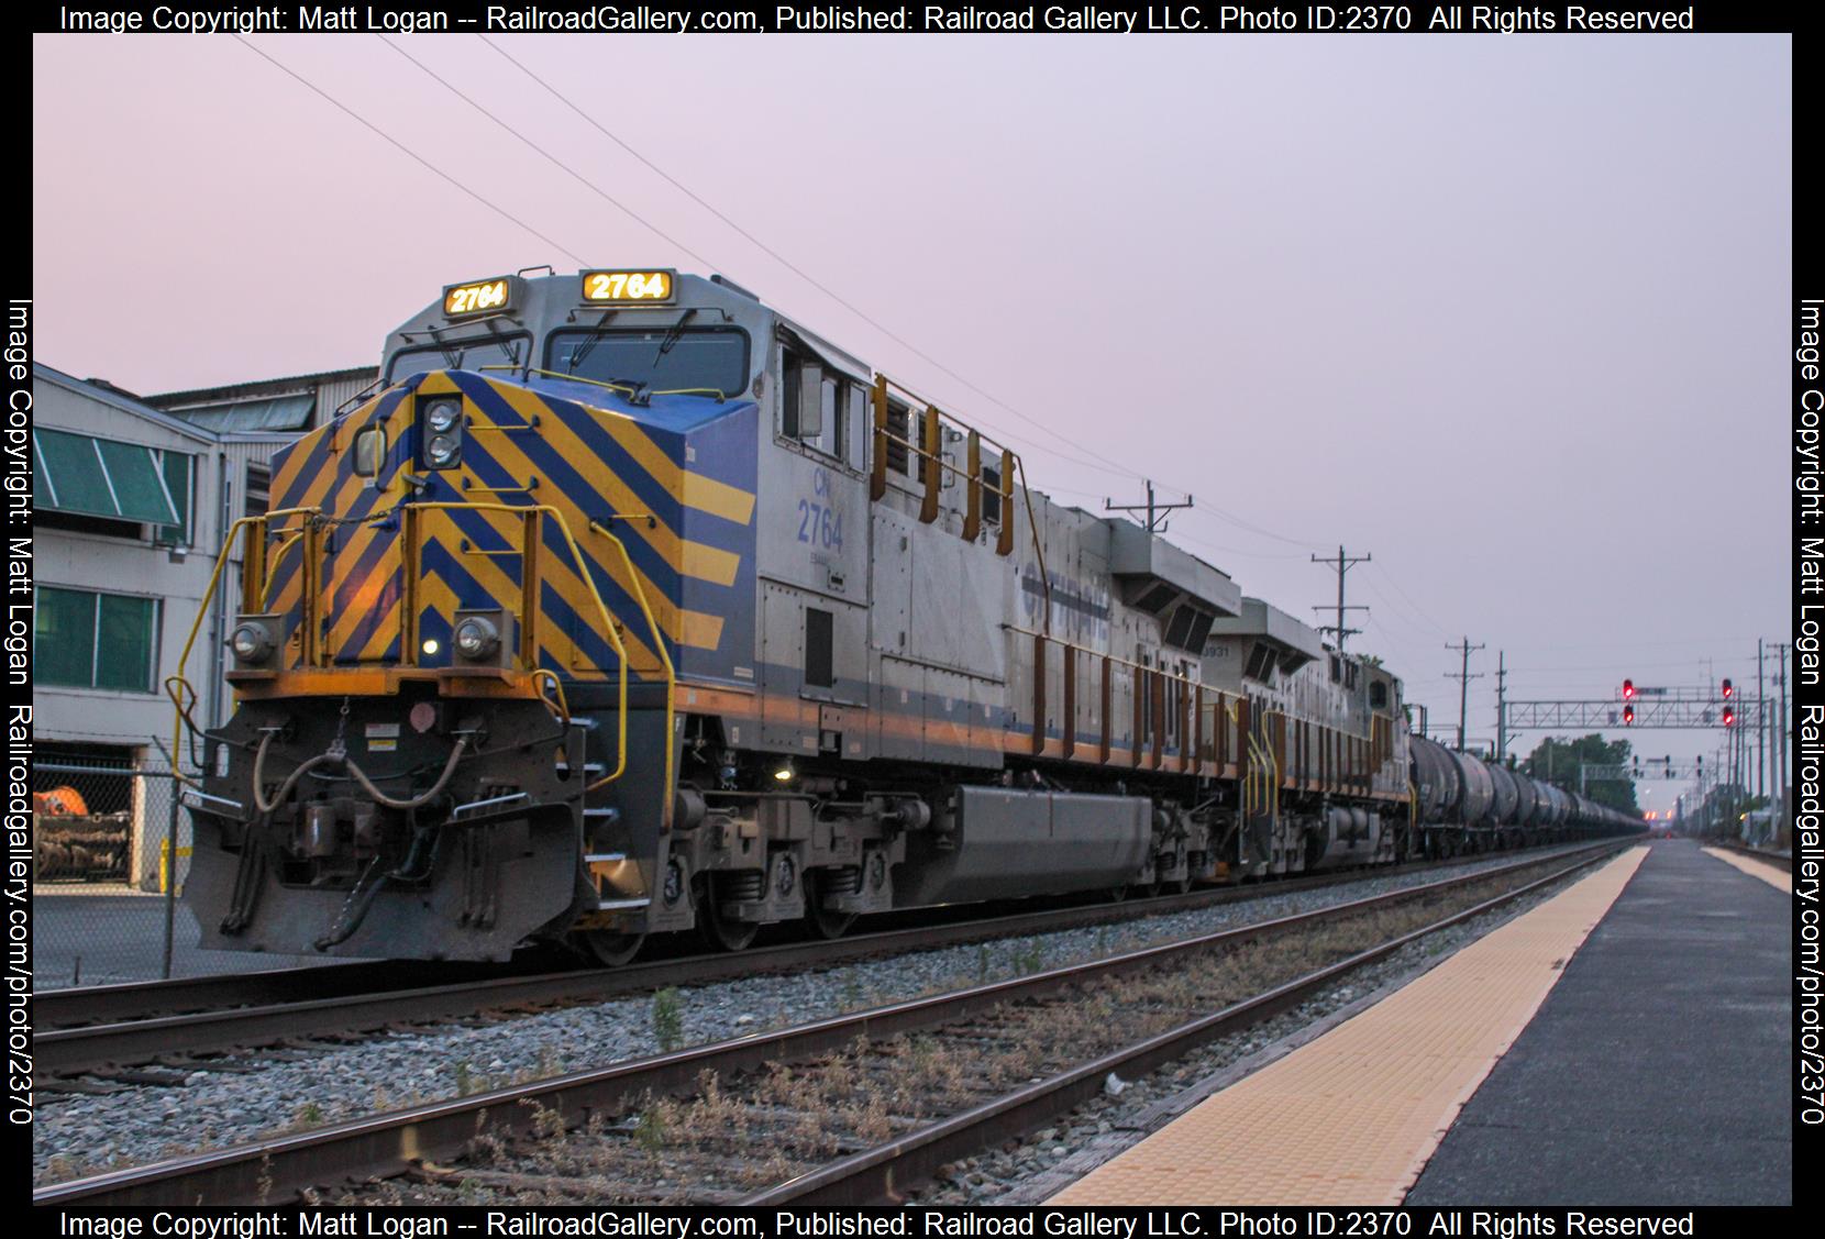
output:
<instances>
[{"instance_id":1,"label":"lower green window on the white building at left","mask_svg":"<svg viewBox=\"0 0 1825 1239\"><path fill-rule=\"evenodd\" d=\"M64 688L153 690L159 600L38 588L33 677Z\"/></svg>"}]
</instances>

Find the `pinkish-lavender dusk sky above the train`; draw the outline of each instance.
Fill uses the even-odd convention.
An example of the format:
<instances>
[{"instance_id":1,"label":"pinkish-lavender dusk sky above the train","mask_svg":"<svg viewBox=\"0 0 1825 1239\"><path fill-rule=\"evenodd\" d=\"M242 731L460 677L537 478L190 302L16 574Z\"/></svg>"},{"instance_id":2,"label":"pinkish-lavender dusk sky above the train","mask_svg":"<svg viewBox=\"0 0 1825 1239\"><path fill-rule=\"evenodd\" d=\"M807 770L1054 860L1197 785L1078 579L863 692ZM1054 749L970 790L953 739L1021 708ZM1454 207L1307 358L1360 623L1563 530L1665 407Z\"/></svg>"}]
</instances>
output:
<instances>
[{"instance_id":1,"label":"pinkish-lavender dusk sky above the train","mask_svg":"<svg viewBox=\"0 0 1825 1239\"><path fill-rule=\"evenodd\" d=\"M36 36L38 358L175 390L374 363L456 279L719 270L1057 498L1192 491L1172 536L1309 622L1372 551L1350 648L1438 724L1486 644L1473 739L1496 650L1610 697L1788 639L1787 36L498 47L891 336L480 38Z\"/></svg>"}]
</instances>

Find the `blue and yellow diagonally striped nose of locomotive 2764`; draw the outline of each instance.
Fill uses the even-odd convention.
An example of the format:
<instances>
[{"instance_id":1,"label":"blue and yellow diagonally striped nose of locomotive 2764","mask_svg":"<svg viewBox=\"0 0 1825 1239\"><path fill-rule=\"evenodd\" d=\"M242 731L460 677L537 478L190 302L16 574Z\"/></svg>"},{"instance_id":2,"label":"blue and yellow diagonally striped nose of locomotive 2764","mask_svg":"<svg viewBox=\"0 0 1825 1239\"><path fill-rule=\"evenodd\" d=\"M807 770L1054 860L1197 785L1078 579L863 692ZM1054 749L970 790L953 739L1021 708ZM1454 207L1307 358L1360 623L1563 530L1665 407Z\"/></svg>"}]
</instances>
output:
<instances>
[{"instance_id":1,"label":"blue and yellow diagonally striped nose of locomotive 2764","mask_svg":"<svg viewBox=\"0 0 1825 1239\"><path fill-rule=\"evenodd\" d=\"M460 458L434 469L420 412L451 398L462 403ZM276 462L281 504L316 502L334 520L319 573L325 659L449 666L456 611L504 609L524 624L531 571L537 661L564 677L617 670L615 637L630 670L657 673L662 659L648 611L675 664L699 662L714 673L745 662L754 405L670 398L688 407L602 407L620 403L577 381L429 372L288 449ZM732 431L719 425L728 420L737 423ZM374 427L387 436L385 460L363 478L350 447ZM697 431L710 431L721 451L690 451ZM416 511L407 531L405 504L438 507ZM529 544L526 513L516 509L533 507L557 518L538 522ZM292 613L299 604L297 553L290 547L274 566L274 609Z\"/></svg>"}]
</instances>

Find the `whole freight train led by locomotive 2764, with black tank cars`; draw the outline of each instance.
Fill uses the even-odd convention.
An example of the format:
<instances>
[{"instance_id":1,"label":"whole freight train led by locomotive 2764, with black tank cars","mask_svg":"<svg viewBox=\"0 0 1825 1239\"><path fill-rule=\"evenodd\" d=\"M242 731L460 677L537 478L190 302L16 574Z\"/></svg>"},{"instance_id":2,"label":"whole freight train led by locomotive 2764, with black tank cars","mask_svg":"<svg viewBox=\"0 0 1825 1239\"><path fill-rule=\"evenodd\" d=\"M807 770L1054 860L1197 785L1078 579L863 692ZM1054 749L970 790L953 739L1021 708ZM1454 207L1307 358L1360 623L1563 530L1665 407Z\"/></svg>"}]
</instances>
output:
<instances>
[{"instance_id":1,"label":"whole freight train led by locomotive 2764, with black tank cars","mask_svg":"<svg viewBox=\"0 0 1825 1239\"><path fill-rule=\"evenodd\" d=\"M454 285L272 478L206 947L619 962L1630 825L721 277Z\"/></svg>"}]
</instances>

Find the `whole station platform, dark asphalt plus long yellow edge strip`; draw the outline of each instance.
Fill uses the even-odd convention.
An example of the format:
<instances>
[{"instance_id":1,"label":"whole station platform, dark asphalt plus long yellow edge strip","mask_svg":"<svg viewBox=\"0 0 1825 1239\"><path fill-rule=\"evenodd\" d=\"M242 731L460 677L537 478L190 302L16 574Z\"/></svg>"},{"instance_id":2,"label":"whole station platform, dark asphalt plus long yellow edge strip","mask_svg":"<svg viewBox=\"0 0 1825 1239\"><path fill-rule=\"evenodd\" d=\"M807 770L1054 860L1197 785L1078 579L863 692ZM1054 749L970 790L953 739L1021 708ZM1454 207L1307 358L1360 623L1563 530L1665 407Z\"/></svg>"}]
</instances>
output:
<instances>
[{"instance_id":1,"label":"whole station platform, dark asphalt plus long yellow edge strip","mask_svg":"<svg viewBox=\"0 0 1825 1239\"><path fill-rule=\"evenodd\" d=\"M1792 1203L1788 898L1630 849L1051 1203Z\"/></svg>"}]
</instances>

